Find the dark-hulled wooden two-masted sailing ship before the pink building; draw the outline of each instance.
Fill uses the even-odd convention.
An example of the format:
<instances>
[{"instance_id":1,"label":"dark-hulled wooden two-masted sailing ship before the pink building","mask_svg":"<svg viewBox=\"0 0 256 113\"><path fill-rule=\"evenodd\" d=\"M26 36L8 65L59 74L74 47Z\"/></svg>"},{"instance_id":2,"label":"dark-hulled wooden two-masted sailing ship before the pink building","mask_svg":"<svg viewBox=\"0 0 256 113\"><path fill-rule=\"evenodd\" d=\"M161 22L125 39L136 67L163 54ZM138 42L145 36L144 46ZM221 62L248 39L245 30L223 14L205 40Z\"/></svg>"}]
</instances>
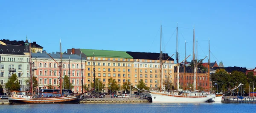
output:
<instances>
[{"instance_id":1,"label":"dark-hulled wooden two-masted sailing ship before the pink building","mask_svg":"<svg viewBox=\"0 0 256 113\"><path fill-rule=\"evenodd\" d=\"M61 49L61 40L60 40L60 49ZM46 52L47 53L47 52ZM49 55L47 53L47 55ZM9 97L10 104L45 104L45 103L79 103L83 96L87 92L93 91L94 88L90 91L82 92L81 94L73 94L73 93L62 93L65 91L62 89L62 54L60 57L60 62L55 61L50 55L50 57L58 64L60 70L60 80L59 80L59 90L53 91L50 94L52 96L43 96L42 92L34 93L33 92L33 75L32 75L32 61L31 61L31 44L29 43L29 68L30 68L30 91L11 91L11 97ZM41 95L40 95L41 94Z\"/></svg>"}]
</instances>

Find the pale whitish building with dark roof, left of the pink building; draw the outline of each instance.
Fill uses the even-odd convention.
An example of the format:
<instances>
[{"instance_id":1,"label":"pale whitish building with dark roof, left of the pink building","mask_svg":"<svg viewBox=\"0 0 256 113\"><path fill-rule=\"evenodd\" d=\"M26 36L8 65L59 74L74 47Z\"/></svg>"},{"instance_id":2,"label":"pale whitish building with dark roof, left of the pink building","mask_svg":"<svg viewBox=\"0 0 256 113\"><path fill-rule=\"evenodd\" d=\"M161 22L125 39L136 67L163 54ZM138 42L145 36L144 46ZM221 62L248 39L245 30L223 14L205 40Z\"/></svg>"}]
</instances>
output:
<instances>
[{"instance_id":1,"label":"pale whitish building with dark roof, left of the pink building","mask_svg":"<svg viewBox=\"0 0 256 113\"><path fill-rule=\"evenodd\" d=\"M17 82L20 83L20 91L29 89L26 80L29 80L29 43L26 40L23 45L9 45L0 42L0 84L3 86L4 93L9 77L16 74Z\"/></svg>"}]
</instances>

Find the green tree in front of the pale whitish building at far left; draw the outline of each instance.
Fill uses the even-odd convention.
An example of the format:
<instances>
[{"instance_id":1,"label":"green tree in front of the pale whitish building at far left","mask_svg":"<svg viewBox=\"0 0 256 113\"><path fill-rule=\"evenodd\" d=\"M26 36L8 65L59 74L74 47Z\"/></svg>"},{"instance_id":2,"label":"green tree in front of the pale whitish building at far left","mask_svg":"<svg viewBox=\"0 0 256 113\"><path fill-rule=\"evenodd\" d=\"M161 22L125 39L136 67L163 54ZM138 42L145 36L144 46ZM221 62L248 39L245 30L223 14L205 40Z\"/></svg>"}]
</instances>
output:
<instances>
[{"instance_id":1,"label":"green tree in front of the pale whitish building at far left","mask_svg":"<svg viewBox=\"0 0 256 113\"><path fill-rule=\"evenodd\" d=\"M18 82L16 74L12 74L12 76L9 77L6 88L8 88L9 91L20 91L20 83Z\"/></svg>"}]
</instances>

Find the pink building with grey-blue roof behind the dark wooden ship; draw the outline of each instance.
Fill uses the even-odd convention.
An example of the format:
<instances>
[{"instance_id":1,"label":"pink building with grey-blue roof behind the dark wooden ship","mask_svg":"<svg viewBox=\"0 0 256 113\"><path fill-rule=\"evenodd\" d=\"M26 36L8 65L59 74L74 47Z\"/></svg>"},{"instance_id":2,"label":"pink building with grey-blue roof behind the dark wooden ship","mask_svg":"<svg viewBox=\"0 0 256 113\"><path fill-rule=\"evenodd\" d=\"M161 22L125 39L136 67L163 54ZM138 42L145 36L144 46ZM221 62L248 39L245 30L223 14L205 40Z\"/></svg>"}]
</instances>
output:
<instances>
[{"instance_id":1,"label":"pink building with grey-blue roof behind the dark wooden ship","mask_svg":"<svg viewBox=\"0 0 256 113\"><path fill-rule=\"evenodd\" d=\"M60 62L60 52L54 52L49 54L58 63ZM47 85L52 84L54 89L58 89L59 86L59 75L60 71L58 68L58 63L56 63L52 58L46 53L32 53L32 69L33 75L38 80L38 88L48 88ZM85 56L85 55L84 55ZM67 55L64 53L62 55L62 80L64 75L69 76L69 61L70 61L70 83L74 86L71 90L74 93L80 93L82 91L82 74L81 74L81 62L83 63L83 84L85 83L85 58L81 55Z\"/></svg>"}]
</instances>

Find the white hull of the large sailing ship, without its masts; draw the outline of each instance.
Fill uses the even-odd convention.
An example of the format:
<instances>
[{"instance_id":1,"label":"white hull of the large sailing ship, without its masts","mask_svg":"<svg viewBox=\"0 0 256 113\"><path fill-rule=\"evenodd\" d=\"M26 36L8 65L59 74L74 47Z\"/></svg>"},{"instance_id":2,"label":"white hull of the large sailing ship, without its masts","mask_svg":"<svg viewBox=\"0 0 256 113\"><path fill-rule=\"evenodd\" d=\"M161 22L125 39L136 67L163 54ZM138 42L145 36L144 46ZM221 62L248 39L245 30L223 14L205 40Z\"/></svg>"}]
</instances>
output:
<instances>
[{"instance_id":1,"label":"white hull of the large sailing ship, without its masts","mask_svg":"<svg viewBox=\"0 0 256 113\"><path fill-rule=\"evenodd\" d=\"M170 94L156 94L150 93L152 97L152 102L207 102L209 99L215 97L215 94L209 94L205 96L180 96L180 95L170 95Z\"/></svg>"}]
</instances>

